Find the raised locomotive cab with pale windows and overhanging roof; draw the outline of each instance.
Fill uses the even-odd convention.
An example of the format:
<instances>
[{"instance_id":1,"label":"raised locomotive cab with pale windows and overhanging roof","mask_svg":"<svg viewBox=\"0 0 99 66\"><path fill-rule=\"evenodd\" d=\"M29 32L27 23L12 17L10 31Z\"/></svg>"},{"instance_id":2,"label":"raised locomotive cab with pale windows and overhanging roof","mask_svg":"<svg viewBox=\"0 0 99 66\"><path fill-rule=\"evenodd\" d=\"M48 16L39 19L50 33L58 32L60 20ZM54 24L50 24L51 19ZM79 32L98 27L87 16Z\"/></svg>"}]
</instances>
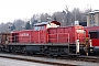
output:
<instances>
[{"instance_id":1,"label":"raised locomotive cab with pale windows and overhanging roof","mask_svg":"<svg viewBox=\"0 0 99 66\"><path fill-rule=\"evenodd\" d=\"M46 44L48 43L48 33L47 33L47 29L51 28L57 28L59 26L61 23L57 21L52 21L52 22L41 22L41 23L36 23L34 24L33 28L33 41L36 44Z\"/></svg>"}]
</instances>

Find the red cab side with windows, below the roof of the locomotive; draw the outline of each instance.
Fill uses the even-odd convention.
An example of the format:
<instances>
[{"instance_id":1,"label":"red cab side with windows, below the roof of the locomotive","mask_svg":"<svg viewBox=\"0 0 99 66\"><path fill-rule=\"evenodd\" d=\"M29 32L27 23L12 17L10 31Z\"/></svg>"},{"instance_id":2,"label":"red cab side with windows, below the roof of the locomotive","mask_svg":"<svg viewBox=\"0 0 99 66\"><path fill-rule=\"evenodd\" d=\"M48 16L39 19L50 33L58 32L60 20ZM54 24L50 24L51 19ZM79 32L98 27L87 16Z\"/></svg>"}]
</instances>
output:
<instances>
[{"instance_id":1,"label":"red cab side with windows, below the roof of the locomotive","mask_svg":"<svg viewBox=\"0 0 99 66\"><path fill-rule=\"evenodd\" d=\"M46 30L45 25L35 26L33 31L33 41L37 44L46 43Z\"/></svg>"}]
</instances>

